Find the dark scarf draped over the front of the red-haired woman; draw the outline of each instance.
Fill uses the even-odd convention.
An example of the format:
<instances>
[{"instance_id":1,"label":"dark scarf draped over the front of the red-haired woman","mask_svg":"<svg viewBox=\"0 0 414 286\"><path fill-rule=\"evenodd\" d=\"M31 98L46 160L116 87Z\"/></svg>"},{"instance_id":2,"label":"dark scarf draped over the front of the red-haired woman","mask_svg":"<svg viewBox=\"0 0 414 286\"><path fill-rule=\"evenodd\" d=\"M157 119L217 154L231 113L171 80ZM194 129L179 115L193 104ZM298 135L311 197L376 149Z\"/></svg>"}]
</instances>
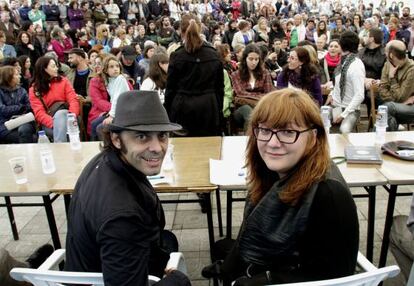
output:
<instances>
[{"instance_id":1,"label":"dark scarf draped over the front of the red-haired woman","mask_svg":"<svg viewBox=\"0 0 414 286\"><path fill-rule=\"evenodd\" d=\"M239 248L241 257L248 263L273 265L275 257L295 260L297 242L306 230L318 184L304 194L298 205L290 206L279 198L288 179L275 182L256 206L250 201L246 204L246 210L253 210L244 219Z\"/></svg>"}]
</instances>

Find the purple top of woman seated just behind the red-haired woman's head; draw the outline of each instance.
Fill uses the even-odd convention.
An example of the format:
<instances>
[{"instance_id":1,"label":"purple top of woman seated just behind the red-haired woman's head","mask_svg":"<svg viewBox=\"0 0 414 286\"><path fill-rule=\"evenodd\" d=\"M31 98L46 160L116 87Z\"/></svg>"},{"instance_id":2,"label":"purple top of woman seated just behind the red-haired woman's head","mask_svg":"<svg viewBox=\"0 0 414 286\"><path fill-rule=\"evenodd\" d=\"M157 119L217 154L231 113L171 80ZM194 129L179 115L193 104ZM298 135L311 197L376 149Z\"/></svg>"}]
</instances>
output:
<instances>
[{"instance_id":1,"label":"purple top of woman seated just behind the red-haired woman's head","mask_svg":"<svg viewBox=\"0 0 414 286\"><path fill-rule=\"evenodd\" d=\"M309 92L313 99L319 103L319 106L323 105L323 97L322 97L322 89L321 89L321 81L319 75L315 75L312 78L312 84L309 88L303 88L303 84L300 81L299 74L296 72L291 72L289 74L288 81L284 80L285 70L283 70L277 77L277 88L285 88L288 87L289 83L296 88L300 88Z\"/></svg>"}]
</instances>

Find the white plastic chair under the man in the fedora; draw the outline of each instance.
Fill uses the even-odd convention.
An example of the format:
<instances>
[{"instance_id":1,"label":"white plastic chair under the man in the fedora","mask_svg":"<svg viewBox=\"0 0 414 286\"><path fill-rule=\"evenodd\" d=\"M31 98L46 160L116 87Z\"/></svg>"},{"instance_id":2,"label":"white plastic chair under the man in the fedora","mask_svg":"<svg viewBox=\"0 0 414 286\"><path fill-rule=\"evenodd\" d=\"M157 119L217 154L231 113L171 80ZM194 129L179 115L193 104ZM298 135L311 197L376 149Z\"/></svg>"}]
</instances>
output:
<instances>
[{"instance_id":1,"label":"white plastic chair under the man in the fedora","mask_svg":"<svg viewBox=\"0 0 414 286\"><path fill-rule=\"evenodd\" d=\"M65 249L58 249L39 268L13 268L10 271L10 276L17 281L30 282L34 286L59 286L64 283L104 286L102 273L53 270L58 269L59 263L64 259ZM170 254L166 269L169 268L174 268L187 274L187 266L181 252L173 252ZM148 280L150 281L150 285L152 285L158 282L160 278L149 275Z\"/></svg>"}]
</instances>

